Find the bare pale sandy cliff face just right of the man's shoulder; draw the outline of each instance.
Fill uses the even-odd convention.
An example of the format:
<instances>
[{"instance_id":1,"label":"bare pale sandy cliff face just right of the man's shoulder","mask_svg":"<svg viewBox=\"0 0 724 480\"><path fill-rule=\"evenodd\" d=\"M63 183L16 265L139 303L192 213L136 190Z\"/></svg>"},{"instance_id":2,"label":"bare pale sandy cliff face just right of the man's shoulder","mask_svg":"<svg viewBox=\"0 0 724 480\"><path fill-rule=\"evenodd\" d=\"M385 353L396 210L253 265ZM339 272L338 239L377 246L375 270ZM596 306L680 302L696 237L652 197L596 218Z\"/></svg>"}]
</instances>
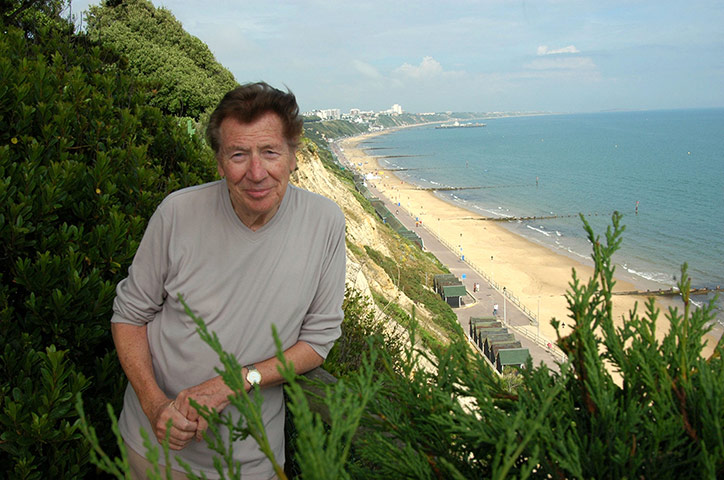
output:
<instances>
[{"instance_id":1,"label":"bare pale sandy cliff face just right of the man's shoulder","mask_svg":"<svg viewBox=\"0 0 724 480\"><path fill-rule=\"evenodd\" d=\"M347 220L347 285L369 298L372 298L371 289L374 289L387 300L395 301L410 312L413 302L398 290L387 273L365 253L364 247L369 246L391 256L390 248L394 246L390 246L386 235L380 232L382 225L362 208L350 190L353 187L347 186L324 167L315 151L314 146L305 144L299 148L298 168L292 174L291 181L294 185L333 200L344 212ZM353 248L350 248L350 245ZM428 316L426 312L420 311L419 307L418 314Z\"/></svg>"}]
</instances>

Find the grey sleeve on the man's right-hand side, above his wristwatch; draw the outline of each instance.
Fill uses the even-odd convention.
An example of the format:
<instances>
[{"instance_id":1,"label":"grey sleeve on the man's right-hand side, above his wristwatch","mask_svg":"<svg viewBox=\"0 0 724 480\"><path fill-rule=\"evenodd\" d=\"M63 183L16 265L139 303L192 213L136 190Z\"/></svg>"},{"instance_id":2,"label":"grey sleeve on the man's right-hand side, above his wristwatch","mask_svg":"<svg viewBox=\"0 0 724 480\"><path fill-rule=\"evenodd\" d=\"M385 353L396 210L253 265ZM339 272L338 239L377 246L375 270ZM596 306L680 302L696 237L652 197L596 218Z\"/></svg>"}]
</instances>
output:
<instances>
[{"instance_id":1,"label":"grey sleeve on the man's right-hand side, above his wristwatch","mask_svg":"<svg viewBox=\"0 0 724 480\"><path fill-rule=\"evenodd\" d=\"M345 220L339 207L334 205L334 210L321 278L299 334L299 340L308 343L322 358L327 358L335 340L341 335L344 318Z\"/></svg>"}]
</instances>

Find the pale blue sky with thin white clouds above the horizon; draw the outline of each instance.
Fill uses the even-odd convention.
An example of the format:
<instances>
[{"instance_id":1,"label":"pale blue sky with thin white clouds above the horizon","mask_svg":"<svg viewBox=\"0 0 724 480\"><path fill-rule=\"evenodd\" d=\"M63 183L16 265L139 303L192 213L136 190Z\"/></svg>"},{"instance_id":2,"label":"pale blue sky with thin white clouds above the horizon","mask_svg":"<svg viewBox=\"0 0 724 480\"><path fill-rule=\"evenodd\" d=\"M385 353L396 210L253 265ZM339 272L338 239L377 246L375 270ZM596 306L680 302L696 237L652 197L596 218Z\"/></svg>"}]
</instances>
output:
<instances>
[{"instance_id":1,"label":"pale blue sky with thin white clouds above the horizon","mask_svg":"<svg viewBox=\"0 0 724 480\"><path fill-rule=\"evenodd\" d=\"M721 1L152 3L237 81L288 86L303 110L724 107Z\"/></svg>"}]
</instances>

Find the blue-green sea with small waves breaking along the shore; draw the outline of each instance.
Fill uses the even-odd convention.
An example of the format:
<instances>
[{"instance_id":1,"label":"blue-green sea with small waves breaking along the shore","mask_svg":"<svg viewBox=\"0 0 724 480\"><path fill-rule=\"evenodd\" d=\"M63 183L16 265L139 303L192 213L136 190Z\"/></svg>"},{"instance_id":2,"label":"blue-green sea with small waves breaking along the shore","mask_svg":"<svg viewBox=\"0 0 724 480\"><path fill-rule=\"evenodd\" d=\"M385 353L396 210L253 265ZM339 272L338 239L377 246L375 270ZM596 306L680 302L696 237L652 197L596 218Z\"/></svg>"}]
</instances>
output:
<instances>
[{"instance_id":1,"label":"blue-green sea with small waves breaking along the shore","mask_svg":"<svg viewBox=\"0 0 724 480\"><path fill-rule=\"evenodd\" d=\"M724 109L481 121L485 127L402 129L360 147L407 182L461 188L436 194L511 218L503 225L512 232L583 263L592 263L591 245L579 214L605 240L620 212L616 273L638 289L676 286L684 263L692 287L724 287ZM722 298L715 315L724 322Z\"/></svg>"}]
</instances>

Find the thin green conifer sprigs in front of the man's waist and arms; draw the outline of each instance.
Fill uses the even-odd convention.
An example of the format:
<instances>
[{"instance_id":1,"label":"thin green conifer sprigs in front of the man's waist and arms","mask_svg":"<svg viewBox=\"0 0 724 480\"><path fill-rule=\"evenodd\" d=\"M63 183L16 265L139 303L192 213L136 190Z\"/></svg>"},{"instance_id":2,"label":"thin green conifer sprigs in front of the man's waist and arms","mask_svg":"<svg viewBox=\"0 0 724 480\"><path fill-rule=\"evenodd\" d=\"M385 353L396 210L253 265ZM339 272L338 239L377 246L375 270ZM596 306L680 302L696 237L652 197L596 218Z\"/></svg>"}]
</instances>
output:
<instances>
[{"instance_id":1,"label":"thin green conifer sprigs in front of the man's waist and arms","mask_svg":"<svg viewBox=\"0 0 724 480\"><path fill-rule=\"evenodd\" d=\"M287 475L284 469L274 457L269 445L264 425L261 419L261 395L256 395L259 386L254 386L254 392L247 393L244 388L242 366L234 355L223 351L221 342L215 333L209 332L203 319L196 317L182 298L186 313L196 322L197 332L201 338L219 355L223 369L217 372L223 377L224 382L234 391L229 397L231 407L238 409L241 416L238 422L234 422L231 415L212 411L207 407L201 407L192 400L192 405L197 408L199 414L209 422L209 430L204 435L209 447L218 454L214 464L221 478L240 479L242 475L241 465L233 460L233 447L231 439L247 438L251 436L259 445L264 455L274 466L275 474L280 480L286 480ZM340 380L334 386L321 385L324 392L323 404L330 412L330 416L324 422L318 413L313 413L309 401L302 389L299 379L294 372L294 366L289 363L282 353L282 346L274 327L272 335L277 347L277 358L281 362L280 372L287 383L286 392L289 398L288 407L292 414L293 422L299 432L295 447L297 456L296 462L303 472L303 477L311 480L339 480L350 478L347 474L346 465L352 449L354 435L357 432L366 406L381 388L378 380L374 380L374 357L371 360L364 359L360 364L355 377L345 383ZM83 403L80 396L77 398L76 409L80 416L81 430L91 445L93 463L101 470L111 473L116 478L125 478L128 472L128 465L125 459L125 452L121 447L121 458L111 459L110 456L100 447L95 435L95 429L89 424L88 418L83 411ZM108 407L108 414L111 417L113 431L119 446L122 439L118 432L117 423L113 409ZM220 425L228 429L228 436L221 438ZM226 441L226 443L224 443ZM165 464L168 465L168 439L164 442ZM157 448L147 445L147 458L155 465L156 474L152 478L161 478L158 468L159 454ZM179 459L180 461L180 459ZM190 479L198 479L187 466L184 466L187 476Z\"/></svg>"}]
</instances>

